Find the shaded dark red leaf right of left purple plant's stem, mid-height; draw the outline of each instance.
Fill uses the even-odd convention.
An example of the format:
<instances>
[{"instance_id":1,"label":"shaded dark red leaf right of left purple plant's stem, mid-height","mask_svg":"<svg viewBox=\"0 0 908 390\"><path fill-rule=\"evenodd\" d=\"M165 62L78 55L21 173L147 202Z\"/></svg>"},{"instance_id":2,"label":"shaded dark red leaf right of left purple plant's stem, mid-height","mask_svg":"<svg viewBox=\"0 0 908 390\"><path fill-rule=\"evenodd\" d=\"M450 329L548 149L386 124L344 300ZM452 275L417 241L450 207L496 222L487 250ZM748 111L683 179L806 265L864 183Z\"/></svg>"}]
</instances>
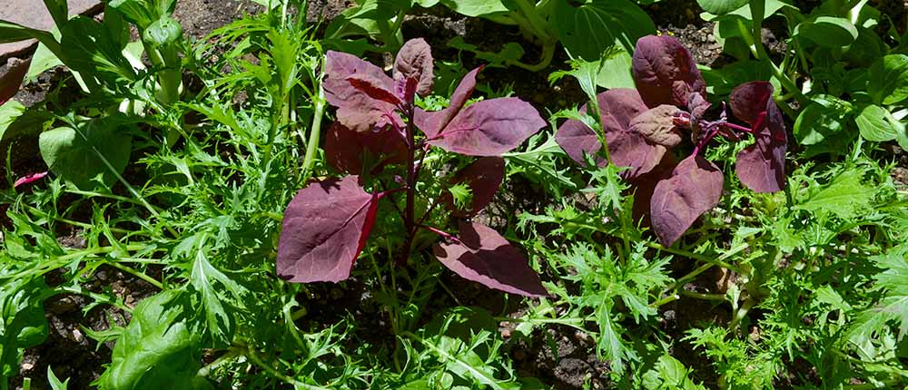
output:
<instances>
[{"instance_id":1,"label":"shaded dark red leaf right of left purple plant's stem, mid-height","mask_svg":"<svg viewBox=\"0 0 908 390\"><path fill-rule=\"evenodd\" d=\"M495 192L505 178L505 159L500 157L482 157L471 162L463 170L457 172L451 180L452 184L467 183L473 192L473 200L465 209L454 206L451 195L445 192L442 202L445 203L455 217L469 218L485 209L495 198Z\"/></svg>"}]
</instances>

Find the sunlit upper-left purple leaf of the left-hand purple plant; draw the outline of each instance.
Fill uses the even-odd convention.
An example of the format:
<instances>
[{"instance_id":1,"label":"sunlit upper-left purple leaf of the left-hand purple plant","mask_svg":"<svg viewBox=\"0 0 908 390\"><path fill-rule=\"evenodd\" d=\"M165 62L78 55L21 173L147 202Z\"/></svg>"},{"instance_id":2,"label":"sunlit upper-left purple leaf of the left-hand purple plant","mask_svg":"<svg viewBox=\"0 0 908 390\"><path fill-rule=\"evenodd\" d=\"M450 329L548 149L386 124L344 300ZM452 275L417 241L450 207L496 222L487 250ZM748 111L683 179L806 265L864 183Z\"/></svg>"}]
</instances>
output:
<instances>
[{"instance_id":1,"label":"sunlit upper-left purple leaf of the left-hand purple plant","mask_svg":"<svg viewBox=\"0 0 908 390\"><path fill-rule=\"evenodd\" d=\"M329 51L325 55L325 79L321 85L325 99L338 108L338 121L355 132L367 132L389 125L402 126L397 106L372 98L350 83L350 76L369 80L375 88L394 91L394 82L378 66L353 54Z\"/></svg>"}]
</instances>

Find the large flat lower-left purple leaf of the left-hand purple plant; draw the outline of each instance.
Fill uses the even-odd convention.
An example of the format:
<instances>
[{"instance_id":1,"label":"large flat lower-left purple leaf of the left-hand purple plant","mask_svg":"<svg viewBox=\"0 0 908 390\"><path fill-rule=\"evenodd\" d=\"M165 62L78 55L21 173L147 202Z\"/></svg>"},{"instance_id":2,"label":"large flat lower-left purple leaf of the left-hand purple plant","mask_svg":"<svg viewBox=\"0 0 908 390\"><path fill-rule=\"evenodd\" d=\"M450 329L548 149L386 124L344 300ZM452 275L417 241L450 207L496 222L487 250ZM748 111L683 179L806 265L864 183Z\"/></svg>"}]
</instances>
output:
<instances>
[{"instance_id":1,"label":"large flat lower-left purple leaf of the left-hand purple plant","mask_svg":"<svg viewBox=\"0 0 908 390\"><path fill-rule=\"evenodd\" d=\"M338 282L369 238L378 196L360 187L359 177L313 182L284 211L278 242L278 277L291 282Z\"/></svg>"}]
</instances>

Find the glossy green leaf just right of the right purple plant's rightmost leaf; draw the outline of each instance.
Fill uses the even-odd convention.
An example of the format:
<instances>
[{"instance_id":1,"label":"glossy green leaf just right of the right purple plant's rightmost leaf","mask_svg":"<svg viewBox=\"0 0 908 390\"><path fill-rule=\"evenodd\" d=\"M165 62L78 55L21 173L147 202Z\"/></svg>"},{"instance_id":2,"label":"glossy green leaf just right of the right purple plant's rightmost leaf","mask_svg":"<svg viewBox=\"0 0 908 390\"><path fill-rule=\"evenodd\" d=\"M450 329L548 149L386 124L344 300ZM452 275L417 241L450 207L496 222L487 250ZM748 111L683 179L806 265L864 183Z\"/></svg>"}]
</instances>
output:
<instances>
[{"instance_id":1,"label":"glossy green leaf just right of the right purple plant's rightmost leaf","mask_svg":"<svg viewBox=\"0 0 908 390\"><path fill-rule=\"evenodd\" d=\"M809 146L806 157L820 153L840 154L856 134L847 128L854 115L850 103L828 95L814 96L795 120L795 138Z\"/></svg>"}]
</instances>

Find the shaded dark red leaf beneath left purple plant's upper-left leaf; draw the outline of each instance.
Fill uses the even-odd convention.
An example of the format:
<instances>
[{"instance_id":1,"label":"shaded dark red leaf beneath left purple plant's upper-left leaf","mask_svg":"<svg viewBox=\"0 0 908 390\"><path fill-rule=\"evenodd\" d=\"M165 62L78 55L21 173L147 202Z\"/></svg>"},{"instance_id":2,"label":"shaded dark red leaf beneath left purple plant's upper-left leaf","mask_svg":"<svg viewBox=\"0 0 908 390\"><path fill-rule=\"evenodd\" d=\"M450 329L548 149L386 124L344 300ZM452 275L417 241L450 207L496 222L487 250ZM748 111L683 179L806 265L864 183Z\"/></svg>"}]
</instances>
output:
<instances>
[{"instance_id":1,"label":"shaded dark red leaf beneath left purple plant's upper-left leaf","mask_svg":"<svg viewBox=\"0 0 908 390\"><path fill-rule=\"evenodd\" d=\"M381 159L382 165L402 163L407 159L407 141L390 128L378 132L354 132L341 122L331 125L325 137L325 160L332 167L339 171L360 173L366 155Z\"/></svg>"}]
</instances>

